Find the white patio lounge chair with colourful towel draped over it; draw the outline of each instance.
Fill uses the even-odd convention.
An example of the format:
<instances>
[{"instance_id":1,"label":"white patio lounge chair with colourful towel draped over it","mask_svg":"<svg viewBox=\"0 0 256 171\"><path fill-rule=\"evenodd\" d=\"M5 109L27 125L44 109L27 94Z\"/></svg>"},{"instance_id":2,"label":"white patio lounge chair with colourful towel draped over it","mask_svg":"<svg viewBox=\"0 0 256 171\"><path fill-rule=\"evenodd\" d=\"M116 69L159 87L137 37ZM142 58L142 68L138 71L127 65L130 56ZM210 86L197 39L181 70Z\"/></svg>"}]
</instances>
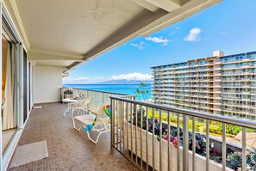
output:
<instances>
[{"instance_id":1,"label":"white patio lounge chair with colourful towel draped over it","mask_svg":"<svg viewBox=\"0 0 256 171\"><path fill-rule=\"evenodd\" d=\"M90 114L75 116L72 118L74 129L80 131L83 127L84 131L86 131L88 138L94 144L97 144L99 137L105 133L110 131L110 118L104 111L104 105L97 109L97 112L91 112ZM76 122L79 122L80 126L76 126ZM90 137L90 132L96 131L98 133L96 140L93 140Z\"/></svg>"}]
</instances>

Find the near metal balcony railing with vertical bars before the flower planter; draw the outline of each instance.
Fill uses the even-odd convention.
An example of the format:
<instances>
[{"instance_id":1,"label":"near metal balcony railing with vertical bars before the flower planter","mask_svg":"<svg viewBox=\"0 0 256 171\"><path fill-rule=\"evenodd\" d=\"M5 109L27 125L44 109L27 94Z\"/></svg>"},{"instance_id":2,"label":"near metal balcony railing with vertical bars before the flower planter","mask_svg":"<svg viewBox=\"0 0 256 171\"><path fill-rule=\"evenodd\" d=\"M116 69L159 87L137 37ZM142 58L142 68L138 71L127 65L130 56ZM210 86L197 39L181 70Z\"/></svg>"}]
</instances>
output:
<instances>
[{"instance_id":1,"label":"near metal balcony railing with vertical bars before the flower planter","mask_svg":"<svg viewBox=\"0 0 256 171\"><path fill-rule=\"evenodd\" d=\"M242 127L242 155L240 163L242 170L247 169L246 129L255 129L256 122L178 107L132 101L121 97L110 97L110 99L111 148L112 150L116 149L119 151L141 170L148 170L149 168L153 170L184 171L231 170L226 168L226 160L222 160L222 164L220 164L210 159L212 155L210 152L210 144L212 143L209 138L210 121L220 122L222 125L223 159L226 159L228 155L226 153L226 125ZM172 104L178 104L180 107L187 105L183 101L175 101ZM205 107L192 103L188 105L194 105L190 107L191 109ZM213 110L215 109L214 106L211 107L213 107ZM167 118L167 121L164 121L164 117L165 119ZM175 118L175 123L178 126L173 127L171 125L171 117ZM196 151L196 135L198 136L195 130L196 119L205 120L206 128L203 135L205 136L206 144L205 156L198 155ZM189 123L192 125L190 129ZM179 129L176 129L177 127ZM176 136L172 136L171 139L171 131L173 129L176 129ZM175 139L175 144L173 138ZM189 166L191 168L188 168Z\"/></svg>"}]
</instances>

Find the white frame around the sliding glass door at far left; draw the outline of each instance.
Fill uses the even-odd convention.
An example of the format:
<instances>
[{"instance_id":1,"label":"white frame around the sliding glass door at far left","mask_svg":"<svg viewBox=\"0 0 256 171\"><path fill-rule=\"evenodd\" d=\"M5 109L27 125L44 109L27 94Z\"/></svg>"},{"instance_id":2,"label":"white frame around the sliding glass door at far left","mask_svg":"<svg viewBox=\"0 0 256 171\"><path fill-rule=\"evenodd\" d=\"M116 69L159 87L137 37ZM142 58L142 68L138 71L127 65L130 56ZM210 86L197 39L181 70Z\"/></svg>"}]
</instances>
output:
<instances>
[{"instance_id":1,"label":"white frame around the sliding glass door at far left","mask_svg":"<svg viewBox=\"0 0 256 171\"><path fill-rule=\"evenodd\" d=\"M11 141L9 142L9 145L7 149L4 151L4 154L2 155L2 131L0 132L0 156L1 156L1 161L0 161L0 169L1 170L6 170L9 162L11 160L11 157L16 149L16 145L22 135L22 130L24 127L23 123L23 49L24 47L22 46L22 39L19 36L16 27L12 21L12 19L9 16L8 10L3 4L3 1L0 0L0 8L1 8L1 28L3 28L4 33L8 34L9 39L11 40L12 43L15 44L16 46L16 91L17 91L17 101L16 101L16 113L17 113L17 131L12 137ZM3 34L2 29L1 29L1 35ZM2 46L2 39L1 39L1 46ZM2 70L2 48L1 48L1 70ZM0 76L0 79L2 80L2 74ZM0 97L2 99L2 89L0 93ZM2 103L2 102L1 102ZM2 111L0 111L0 125L2 127Z\"/></svg>"}]
</instances>

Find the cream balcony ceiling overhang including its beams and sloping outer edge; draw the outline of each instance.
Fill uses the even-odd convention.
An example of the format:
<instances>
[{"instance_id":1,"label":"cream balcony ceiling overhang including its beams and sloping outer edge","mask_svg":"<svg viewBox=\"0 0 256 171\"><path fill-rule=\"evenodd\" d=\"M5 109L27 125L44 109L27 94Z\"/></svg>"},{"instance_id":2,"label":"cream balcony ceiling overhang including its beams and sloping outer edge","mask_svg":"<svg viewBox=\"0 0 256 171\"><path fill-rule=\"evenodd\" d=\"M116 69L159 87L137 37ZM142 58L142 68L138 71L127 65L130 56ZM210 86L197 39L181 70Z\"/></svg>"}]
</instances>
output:
<instances>
[{"instance_id":1,"label":"cream balcony ceiling overhang including its beams and sloping outer edge","mask_svg":"<svg viewBox=\"0 0 256 171\"><path fill-rule=\"evenodd\" d=\"M78 65L221 0L3 0L37 65Z\"/></svg>"}]
</instances>

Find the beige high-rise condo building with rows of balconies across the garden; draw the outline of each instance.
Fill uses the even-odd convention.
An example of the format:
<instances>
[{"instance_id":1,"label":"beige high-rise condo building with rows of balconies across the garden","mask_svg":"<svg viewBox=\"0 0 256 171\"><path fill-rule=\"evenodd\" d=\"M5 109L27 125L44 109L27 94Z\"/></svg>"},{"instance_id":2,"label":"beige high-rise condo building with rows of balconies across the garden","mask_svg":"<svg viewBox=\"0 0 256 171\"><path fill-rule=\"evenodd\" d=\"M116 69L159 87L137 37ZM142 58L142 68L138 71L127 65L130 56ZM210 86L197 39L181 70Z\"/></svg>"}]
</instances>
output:
<instances>
[{"instance_id":1,"label":"beige high-rise condo building with rows of balconies across the garden","mask_svg":"<svg viewBox=\"0 0 256 171\"><path fill-rule=\"evenodd\" d=\"M256 52L152 67L153 101L207 113L256 119Z\"/></svg>"}]
</instances>

